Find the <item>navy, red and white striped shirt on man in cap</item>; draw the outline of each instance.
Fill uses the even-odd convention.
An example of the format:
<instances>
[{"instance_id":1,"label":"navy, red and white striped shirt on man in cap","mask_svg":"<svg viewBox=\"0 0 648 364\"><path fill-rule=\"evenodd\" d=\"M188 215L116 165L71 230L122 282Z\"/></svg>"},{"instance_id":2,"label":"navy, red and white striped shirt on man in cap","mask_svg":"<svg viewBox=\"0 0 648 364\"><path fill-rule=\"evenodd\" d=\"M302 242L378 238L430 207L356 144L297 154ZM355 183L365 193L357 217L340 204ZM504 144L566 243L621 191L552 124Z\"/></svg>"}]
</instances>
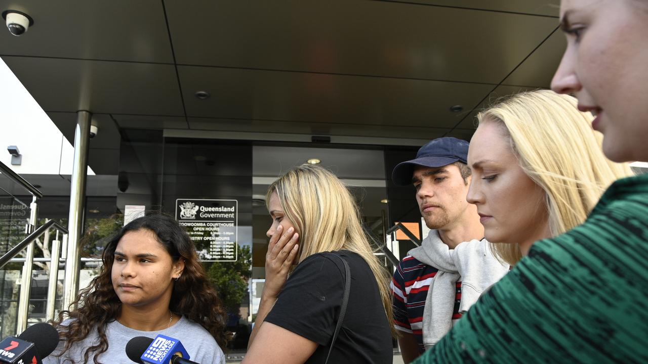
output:
<instances>
[{"instance_id":1,"label":"navy, red and white striped shirt on man in cap","mask_svg":"<svg viewBox=\"0 0 648 364\"><path fill-rule=\"evenodd\" d=\"M425 350L422 334L423 310L428 297L428 289L437 271L439 270L435 267L421 263L413 256L408 255L399 263L391 279L394 327L402 332L413 334L421 353ZM459 313L460 281L457 282L456 287L452 324L461 318L461 313Z\"/></svg>"}]
</instances>

